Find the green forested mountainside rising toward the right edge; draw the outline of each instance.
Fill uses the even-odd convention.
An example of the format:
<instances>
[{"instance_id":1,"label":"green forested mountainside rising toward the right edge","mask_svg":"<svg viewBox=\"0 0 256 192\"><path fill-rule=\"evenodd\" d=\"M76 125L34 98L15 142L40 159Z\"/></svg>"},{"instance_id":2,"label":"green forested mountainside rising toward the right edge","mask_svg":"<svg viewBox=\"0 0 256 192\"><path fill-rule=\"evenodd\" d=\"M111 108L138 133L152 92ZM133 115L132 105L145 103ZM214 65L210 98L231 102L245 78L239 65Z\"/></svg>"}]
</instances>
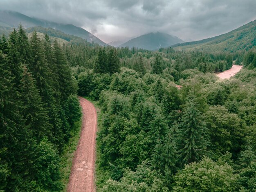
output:
<instances>
[{"instance_id":1,"label":"green forested mountainside rising toward the right edge","mask_svg":"<svg viewBox=\"0 0 256 192\"><path fill-rule=\"evenodd\" d=\"M173 45L175 50L231 51L249 50L256 46L256 20L220 36Z\"/></svg>"}]
</instances>

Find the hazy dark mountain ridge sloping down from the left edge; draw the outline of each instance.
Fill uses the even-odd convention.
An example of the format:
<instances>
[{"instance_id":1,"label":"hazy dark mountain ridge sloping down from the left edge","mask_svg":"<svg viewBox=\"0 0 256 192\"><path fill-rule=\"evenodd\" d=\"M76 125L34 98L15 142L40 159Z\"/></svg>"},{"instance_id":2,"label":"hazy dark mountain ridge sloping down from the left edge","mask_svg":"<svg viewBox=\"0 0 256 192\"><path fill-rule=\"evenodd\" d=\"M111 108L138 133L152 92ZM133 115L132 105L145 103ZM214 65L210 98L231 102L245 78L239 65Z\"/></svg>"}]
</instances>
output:
<instances>
[{"instance_id":1,"label":"hazy dark mountain ridge sloping down from the left edge","mask_svg":"<svg viewBox=\"0 0 256 192\"><path fill-rule=\"evenodd\" d=\"M67 33L73 36L81 37L83 39L86 39L88 42L98 43L99 45L108 45L105 42L101 41L96 36L92 35L92 33L89 33L85 29L82 29L81 27L76 27L71 24L61 24L61 23L50 22L46 20L40 20L36 18L30 18L21 13L13 12L13 11L0 11L0 26L5 28L18 27L20 23L25 28L35 27L35 26L41 26L41 27L47 27L47 28L50 27L53 29L58 29L60 31L63 31L64 33Z\"/></svg>"}]
</instances>

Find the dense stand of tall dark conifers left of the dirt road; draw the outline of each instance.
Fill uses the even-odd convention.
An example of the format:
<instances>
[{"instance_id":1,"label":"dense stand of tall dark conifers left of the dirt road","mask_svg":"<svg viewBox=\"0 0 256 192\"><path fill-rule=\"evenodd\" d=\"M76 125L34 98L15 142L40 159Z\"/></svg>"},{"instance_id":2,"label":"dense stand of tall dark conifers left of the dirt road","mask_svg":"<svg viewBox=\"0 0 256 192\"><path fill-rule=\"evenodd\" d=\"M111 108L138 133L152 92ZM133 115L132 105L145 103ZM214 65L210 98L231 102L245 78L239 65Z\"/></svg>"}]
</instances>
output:
<instances>
[{"instance_id":1,"label":"dense stand of tall dark conifers left of the dirt road","mask_svg":"<svg viewBox=\"0 0 256 192\"><path fill-rule=\"evenodd\" d=\"M60 152L81 109L64 51L22 26L0 38L0 190L61 191Z\"/></svg>"}]
</instances>

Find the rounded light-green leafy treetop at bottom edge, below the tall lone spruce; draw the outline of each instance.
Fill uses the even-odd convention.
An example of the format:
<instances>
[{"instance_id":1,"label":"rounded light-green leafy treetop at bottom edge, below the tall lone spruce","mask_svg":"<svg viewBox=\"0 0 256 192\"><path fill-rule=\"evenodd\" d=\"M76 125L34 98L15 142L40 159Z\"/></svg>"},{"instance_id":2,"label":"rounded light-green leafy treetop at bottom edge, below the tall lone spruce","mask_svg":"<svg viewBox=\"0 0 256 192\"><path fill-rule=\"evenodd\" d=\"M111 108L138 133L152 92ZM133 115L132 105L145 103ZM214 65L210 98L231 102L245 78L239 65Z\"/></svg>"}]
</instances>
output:
<instances>
[{"instance_id":1,"label":"rounded light-green leafy treetop at bottom edge, below the tall lone spruce","mask_svg":"<svg viewBox=\"0 0 256 192\"><path fill-rule=\"evenodd\" d=\"M199 163L185 165L174 177L173 191L238 191L238 175L227 163L219 164L204 157Z\"/></svg>"}]
</instances>

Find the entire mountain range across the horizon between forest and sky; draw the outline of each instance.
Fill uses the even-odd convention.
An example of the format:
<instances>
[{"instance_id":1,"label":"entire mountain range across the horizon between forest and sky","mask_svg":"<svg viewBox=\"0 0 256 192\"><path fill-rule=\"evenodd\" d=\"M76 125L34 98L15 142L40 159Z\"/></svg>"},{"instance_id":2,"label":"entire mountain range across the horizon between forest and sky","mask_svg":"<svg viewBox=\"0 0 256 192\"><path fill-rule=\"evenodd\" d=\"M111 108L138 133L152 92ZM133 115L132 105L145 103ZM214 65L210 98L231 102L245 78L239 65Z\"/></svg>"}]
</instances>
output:
<instances>
[{"instance_id":1,"label":"entire mountain range across the horizon between forest and sky","mask_svg":"<svg viewBox=\"0 0 256 192\"><path fill-rule=\"evenodd\" d=\"M160 47L173 47L179 51L231 51L249 50L256 46L256 20L243 25L228 33L192 42L184 42L176 36L167 33L147 33L124 41L113 41L106 44L92 33L72 24L61 24L37 18L31 18L18 12L0 10L0 34L10 33L13 28L22 24L31 32L36 29L40 33L48 33L60 42L94 42L103 46L138 47L141 49L157 50ZM39 26L39 27L38 27ZM64 41L63 41L64 40ZM86 40L86 41L85 41Z\"/></svg>"}]
</instances>

